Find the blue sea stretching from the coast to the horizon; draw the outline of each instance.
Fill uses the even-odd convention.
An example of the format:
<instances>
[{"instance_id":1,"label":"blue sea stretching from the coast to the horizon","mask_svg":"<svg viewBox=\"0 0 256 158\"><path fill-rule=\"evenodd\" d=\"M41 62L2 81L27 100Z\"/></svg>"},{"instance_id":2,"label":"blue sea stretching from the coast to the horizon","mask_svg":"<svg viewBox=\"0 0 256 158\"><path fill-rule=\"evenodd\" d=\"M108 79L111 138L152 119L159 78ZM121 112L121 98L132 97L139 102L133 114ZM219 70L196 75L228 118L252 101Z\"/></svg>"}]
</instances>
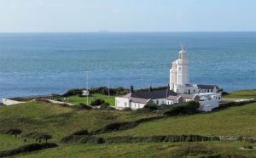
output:
<instances>
[{"instance_id":1,"label":"blue sea stretching from the coast to the horizon","mask_svg":"<svg viewBox=\"0 0 256 158\"><path fill-rule=\"evenodd\" d=\"M256 32L0 33L0 99L169 83L183 43L190 83L256 88Z\"/></svg>"}]
</instances>

